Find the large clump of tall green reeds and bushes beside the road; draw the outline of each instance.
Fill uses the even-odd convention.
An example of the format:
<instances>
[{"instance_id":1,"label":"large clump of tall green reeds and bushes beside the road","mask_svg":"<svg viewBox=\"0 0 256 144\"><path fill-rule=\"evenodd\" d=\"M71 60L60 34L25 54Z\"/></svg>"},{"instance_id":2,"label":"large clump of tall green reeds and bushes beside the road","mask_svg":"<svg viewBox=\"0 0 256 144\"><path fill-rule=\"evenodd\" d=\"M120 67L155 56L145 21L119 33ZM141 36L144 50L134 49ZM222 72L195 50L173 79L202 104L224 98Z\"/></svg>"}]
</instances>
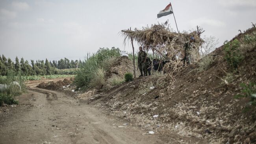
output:
<instances>
[{"instance_id":1,"label":"large clump of tall green reeds and bushes beside the road","mask_svg":"<svg viewBox=\"0 0 256 144\"><path fill-rule=\"evenodd\" d=\"M100 48L96 54L87 54L80 69L77 70L77 75L74 83L78 88L88 88L90 86L102 87L105 80L105 70L111 68L114 63L114 58L120 56L119 48L112 47Z\"/></svg>"}]
</instances>

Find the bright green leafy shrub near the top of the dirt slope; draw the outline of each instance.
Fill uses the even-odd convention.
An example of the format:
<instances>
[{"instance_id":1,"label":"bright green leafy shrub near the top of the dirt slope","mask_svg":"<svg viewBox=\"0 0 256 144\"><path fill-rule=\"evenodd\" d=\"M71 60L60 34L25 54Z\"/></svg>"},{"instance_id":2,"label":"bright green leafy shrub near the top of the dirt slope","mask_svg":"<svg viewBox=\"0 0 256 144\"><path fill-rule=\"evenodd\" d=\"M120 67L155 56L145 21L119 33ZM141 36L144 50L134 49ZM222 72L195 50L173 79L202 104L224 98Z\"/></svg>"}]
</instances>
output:
<instances>
[{"instance_id":1,"label":"bright green leafy shrub near the top of the dirt slope","mask_svg":"<svg viewBox=\"0 0 256 144\"><path fill-rule=\"evenodd\" d=\"M224 58L228 62L228 65L233 69L238 67L238 64L243 60L243 56L241 51L239 50L240 42L235 39L232 42L225 41L224 42Z\"/></svg>"}]
</instances>

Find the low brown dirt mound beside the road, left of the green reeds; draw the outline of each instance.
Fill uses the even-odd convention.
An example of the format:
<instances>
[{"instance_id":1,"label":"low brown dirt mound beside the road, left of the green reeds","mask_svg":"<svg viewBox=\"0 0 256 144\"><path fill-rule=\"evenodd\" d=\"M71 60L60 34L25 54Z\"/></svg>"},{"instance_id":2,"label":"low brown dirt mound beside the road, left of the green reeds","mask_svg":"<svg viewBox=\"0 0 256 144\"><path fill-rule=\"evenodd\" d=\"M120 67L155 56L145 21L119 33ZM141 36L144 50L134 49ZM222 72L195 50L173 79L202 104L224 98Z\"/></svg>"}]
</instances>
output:
<instances>
[{"instance_id":1,"label":"low brown dirt mound beside the road, left of the green reeds","mask_svg":"<svg viewBox=\"0 0 256 144\"><path fill-rule=\"evenodd\" d=\"M58 90L60 88L63 88L63 86L70 85L72 83L72 78L70 80L64 79L63 81L49 81L48 83L40 83L37 87L38 88L44 88L48 90Z\"/></svg>"}]
</instances>

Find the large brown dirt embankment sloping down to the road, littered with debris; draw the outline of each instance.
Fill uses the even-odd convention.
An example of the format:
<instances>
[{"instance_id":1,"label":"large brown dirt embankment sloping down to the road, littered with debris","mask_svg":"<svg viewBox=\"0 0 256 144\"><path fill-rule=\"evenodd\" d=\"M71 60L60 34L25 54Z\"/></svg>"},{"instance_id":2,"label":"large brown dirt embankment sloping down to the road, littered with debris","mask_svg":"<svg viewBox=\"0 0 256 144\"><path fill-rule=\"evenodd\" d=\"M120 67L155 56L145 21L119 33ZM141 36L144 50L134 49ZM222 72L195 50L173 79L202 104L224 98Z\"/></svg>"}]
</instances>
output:
<instances>
[{"instance_id":1,"label":"large brown dirt embankment sloping down to the road, littered with debris","mask_svg":"<svg viewBox=\"0 0 256 144\"><path fill-rule=\"evenodd\" d=\"M243 44L244 36L252 33L256 28L236 39ZM240 83L256 81L256 47L247 48L236 72L230 72L222 46L210 54L212 63L204 71L195 64L174 76L140 77L88 101L156 132L167 128L166 132L206 139L208 143L255 144L256 107L242 112L249 98L234 99L241 92Z\"/></svg>"}]
</instances>

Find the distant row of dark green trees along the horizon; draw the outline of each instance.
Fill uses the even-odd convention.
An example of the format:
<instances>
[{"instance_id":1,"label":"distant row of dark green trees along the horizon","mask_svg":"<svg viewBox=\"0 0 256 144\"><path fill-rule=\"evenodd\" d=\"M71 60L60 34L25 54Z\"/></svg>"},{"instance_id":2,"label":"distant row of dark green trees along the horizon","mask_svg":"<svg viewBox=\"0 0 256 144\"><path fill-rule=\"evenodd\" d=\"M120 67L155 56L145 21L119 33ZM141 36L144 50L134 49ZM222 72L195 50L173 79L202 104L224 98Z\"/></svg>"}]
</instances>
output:
<instances>
[{"instance_id":1,"label":"distant row of dark green trees along the horizon","mask_svg":"<svg viewBox=\"0 0 256 144\"><path fill-rule=\"evenodd\" d=\"M10 58L6 58L4 55L0 56L0 75L6 76L8 72L15 72L22 76L33 75L52 75L52 74L76 74L76 68L84 63L81 60L69 60L67 58L60 59L58 61L44 60L31 60L31 65L28 60L24 61L16 56L15 63ZM63 70L68 69L68 70Z\"/></svg>"}]
</instances>

